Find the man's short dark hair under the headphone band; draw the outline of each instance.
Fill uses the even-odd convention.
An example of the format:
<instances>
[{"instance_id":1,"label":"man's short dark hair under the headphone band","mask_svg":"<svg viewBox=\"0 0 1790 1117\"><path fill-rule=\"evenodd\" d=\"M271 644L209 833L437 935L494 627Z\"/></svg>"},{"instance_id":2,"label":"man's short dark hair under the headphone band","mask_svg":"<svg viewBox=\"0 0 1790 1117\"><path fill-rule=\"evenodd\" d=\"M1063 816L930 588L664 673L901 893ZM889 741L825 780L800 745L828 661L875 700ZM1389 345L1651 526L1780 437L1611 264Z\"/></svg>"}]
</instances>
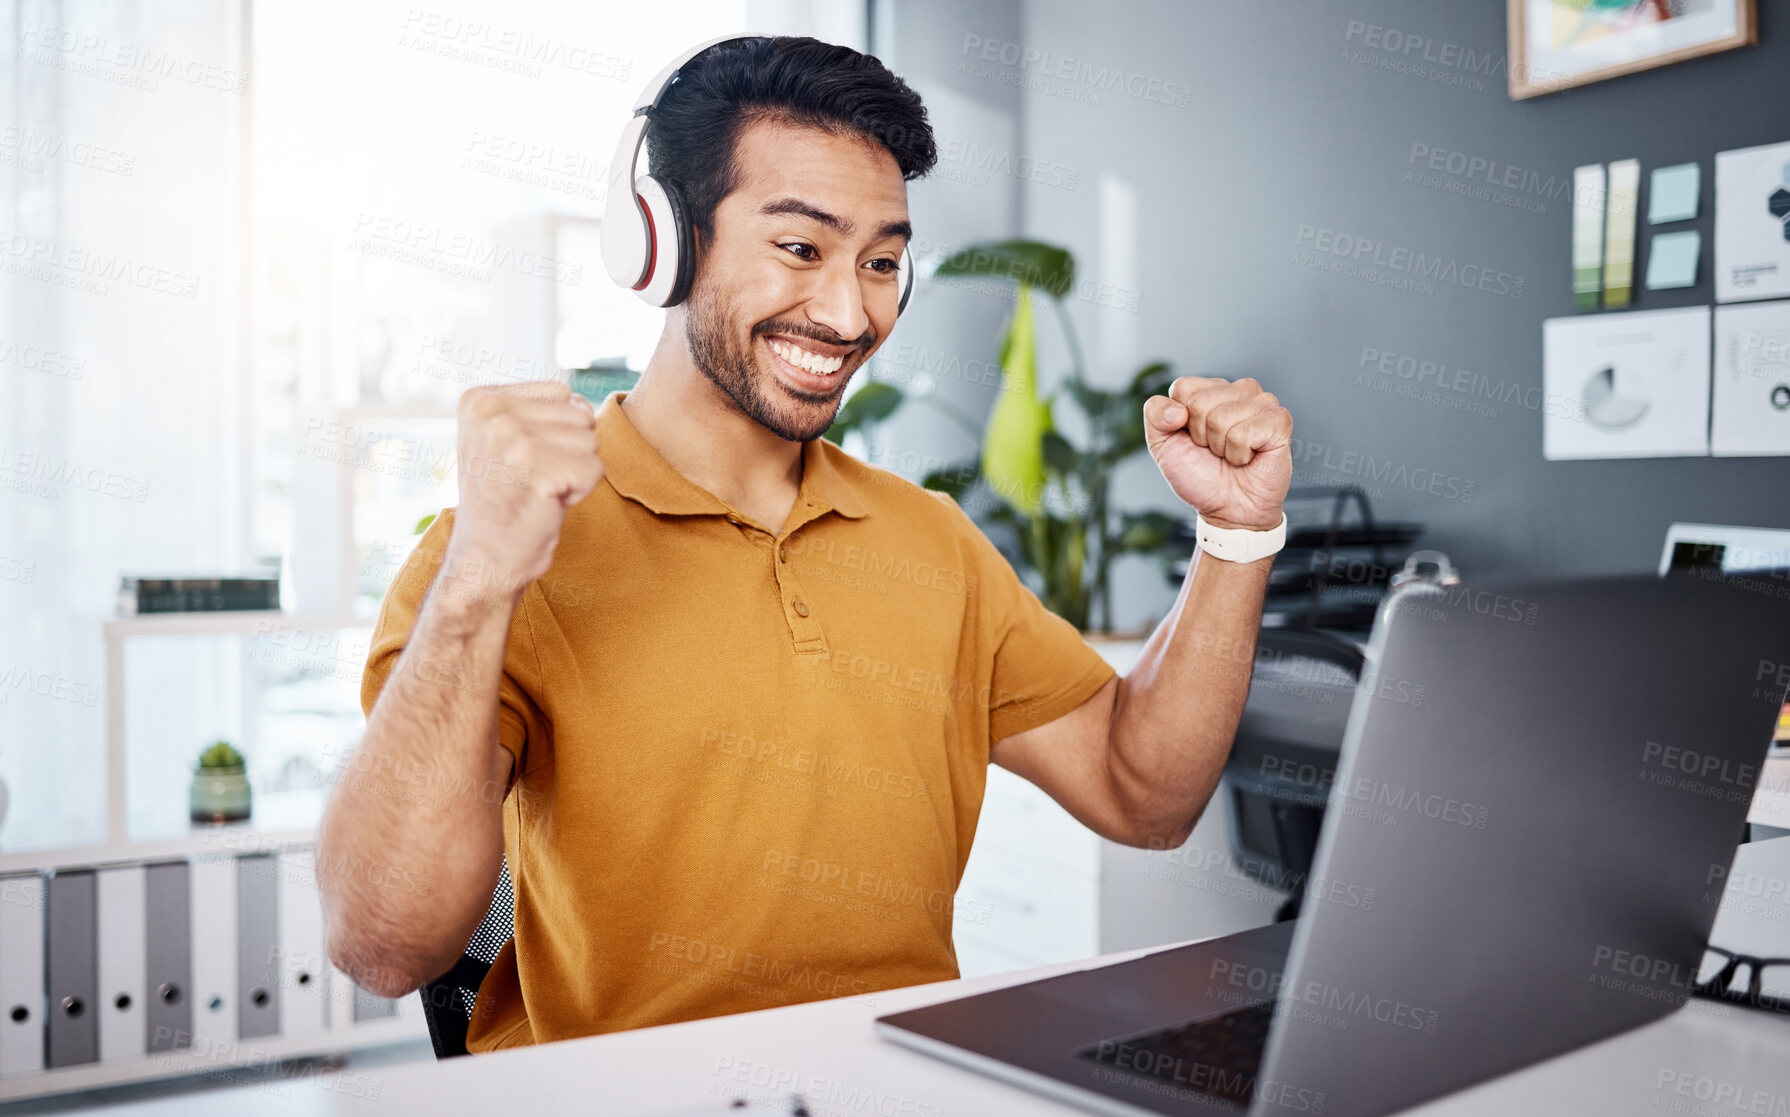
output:
<instances>
[{"instance_id":1,"label":"man's short dark hair under the headphone band","mask_svg":"<svg viewBox=\"0 0 1790 1117\"><path fill-rule=\"evenodd\" d=\"M920 95L875 57L797 36L716 43L684 64L646 127L652 175L677 188L703 238L739 186L739 129L766 118L881 143L902 179L938 163Z\"/></svg>"}]
</instances>

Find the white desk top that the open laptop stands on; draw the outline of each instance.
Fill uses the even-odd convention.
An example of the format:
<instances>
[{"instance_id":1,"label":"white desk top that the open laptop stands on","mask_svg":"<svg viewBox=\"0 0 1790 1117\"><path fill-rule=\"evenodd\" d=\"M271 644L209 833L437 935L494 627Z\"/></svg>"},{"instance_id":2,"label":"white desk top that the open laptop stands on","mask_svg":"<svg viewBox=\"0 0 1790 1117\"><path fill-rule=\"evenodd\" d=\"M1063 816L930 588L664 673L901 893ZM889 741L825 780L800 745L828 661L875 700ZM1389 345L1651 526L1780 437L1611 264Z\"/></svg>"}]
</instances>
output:
<instances>
[{"instance_id":1,"label":"white desk top that the open laptop stands on","mask_svg":"<svg viewBox=\"0 0 1790 1117\"><path fill-rule=\"evenodd\" d=\"M1715 942L1743 952L1790 951L1790 838L1742 847ZM770 1101L791 1088L816 1117L1070 1115L1040 1096L895 1047L872 1033L882 1013L1090 965L1042 967L970 981L822 1001L737 1017L523 1047L446 1063L376 1067L136 1103L141 1117L268 1113L680 1113L732 1096ZM1675 1090L1683 1083L1688 1094ZM1742 1101L1722 1108L1717 1090ZM1763 1108L1747 1108L1763 1106ZM1692 1002L1665 1020L1584 1047L1418 1110L1423 1117L1509 1113L1790 1112L1790 1019Z\"/></svg>"}]
</instances>

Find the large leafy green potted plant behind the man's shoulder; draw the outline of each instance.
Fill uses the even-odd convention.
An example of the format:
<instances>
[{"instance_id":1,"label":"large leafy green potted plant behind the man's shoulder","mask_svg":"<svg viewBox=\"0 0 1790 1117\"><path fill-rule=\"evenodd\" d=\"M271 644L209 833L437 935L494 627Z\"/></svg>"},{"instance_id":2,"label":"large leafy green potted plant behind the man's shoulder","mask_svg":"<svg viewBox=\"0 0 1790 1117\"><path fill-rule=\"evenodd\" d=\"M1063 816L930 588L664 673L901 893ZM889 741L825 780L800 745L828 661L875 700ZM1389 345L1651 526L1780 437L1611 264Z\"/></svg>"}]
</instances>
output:
<instances>
[{"instance_id":1,"label":"large leafy green potted plant behind the man's shoulder","mask_svg":"<svg viewBox=\"0 0 1790 1117\"><path fill-rule=\"evenodd\" d=\"M1144 451L1144 401L1167 392L1174 372L1165 362L1155 362L1119 388L1095 388L1087 381L1081 342L1063 306L1076 286L1076 261L1067 249L1035 240L974 243L952 252L933 276L1006 279L1015 285L1017 301L1001 338L1001 394L979 435L979 456L934 471L924 483L981 510L983 519L1011 528L1013 541L1004 550L1047 609L1083 632L1097 616L1099 632L1110 632L1113 560L1151 555L1164 569L1174 560L1169 542L1178 517L1112 507L1113 471ZM1033 294L1049 299L1070 356L1061 387L1042 397ZM1063 396L1087 417L1081 446L1056 428L1054 406ZM838 440L843 430L884 419L900 403L900 388L868 383L845 401L827 437ZM959 426L965 426L961 419ZM974 426L968 431L972 439L977 433ZM981 492L993 499L976 499Z\"/></svg>"}]
</instances>

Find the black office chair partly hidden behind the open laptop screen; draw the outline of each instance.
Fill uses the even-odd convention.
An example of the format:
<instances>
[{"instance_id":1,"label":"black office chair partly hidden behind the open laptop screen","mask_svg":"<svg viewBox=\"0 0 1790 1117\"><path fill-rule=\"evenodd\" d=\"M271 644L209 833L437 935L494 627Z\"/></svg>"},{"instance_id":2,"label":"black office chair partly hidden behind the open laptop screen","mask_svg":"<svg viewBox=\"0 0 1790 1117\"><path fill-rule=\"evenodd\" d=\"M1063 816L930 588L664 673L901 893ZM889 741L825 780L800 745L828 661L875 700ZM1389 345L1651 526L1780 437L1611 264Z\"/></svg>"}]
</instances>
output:
<instances>
[{"instance_id":1,"label":"black office chair partly hidden behind the open laptop screen","mask_svg":"<svg viewBox=\"0 0 1790 1117\"><path fill-rule=\"evenodd\" d=\"M1362 662L1360 648L1332 632L1264 628L1257 639L1223 784L1232 857L1251 879L1291 891L1276 920L1300 913Z\"/></svg>"}]
</instances>

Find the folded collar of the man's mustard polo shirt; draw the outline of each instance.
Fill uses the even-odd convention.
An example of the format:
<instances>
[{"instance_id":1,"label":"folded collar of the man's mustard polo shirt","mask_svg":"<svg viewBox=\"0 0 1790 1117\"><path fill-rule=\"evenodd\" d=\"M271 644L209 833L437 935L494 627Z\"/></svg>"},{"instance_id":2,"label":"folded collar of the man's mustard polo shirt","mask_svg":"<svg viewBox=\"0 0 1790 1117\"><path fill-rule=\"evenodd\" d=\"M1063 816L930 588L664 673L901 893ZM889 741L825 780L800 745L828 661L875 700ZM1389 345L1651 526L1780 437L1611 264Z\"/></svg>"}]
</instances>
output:
<instances>
[{"instance_id":1,"label":"folded collar of the man's mustard polo shirt","mask_svg":"<svg viewBox=\"0 0 1790 1117\"><path fill-rule=\"evenodd\" d=\"M652 448L621 410L621 401L626 397L626 392L610 392L596 410L603 476L616 492L661 516L737 516L727 501L686 478ZM859 519L868 508L857 487L840 469L841 458L850 455L825 439L804 442L802 490L797 494L797 503L807 501L816 514L832 510Z\"/></svg>"}]
</instances>

